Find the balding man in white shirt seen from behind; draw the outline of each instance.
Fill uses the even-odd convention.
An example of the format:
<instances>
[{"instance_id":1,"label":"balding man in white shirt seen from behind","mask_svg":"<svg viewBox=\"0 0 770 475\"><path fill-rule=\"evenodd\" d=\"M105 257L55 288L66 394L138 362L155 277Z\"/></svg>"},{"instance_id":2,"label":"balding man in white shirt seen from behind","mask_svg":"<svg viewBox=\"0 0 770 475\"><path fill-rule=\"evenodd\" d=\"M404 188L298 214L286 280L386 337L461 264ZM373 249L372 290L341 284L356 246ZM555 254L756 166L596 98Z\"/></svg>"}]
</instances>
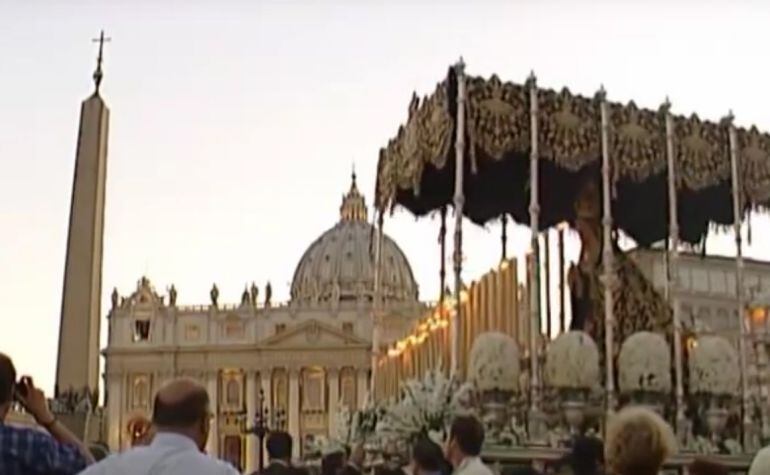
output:
<instances>
[{"instance_id":1,"label":"balding man in white shirt seen from behind","mask_svg":"<svg viewBox=\"0 0 770 475\"><path fill-rule=\"evenodd\" d=\"M232 466L203 453L210 419L203 386L189 379L171 381L155 396L152 443L108 457L81 475L237 475Z\"/></svg>"}]
</instances>

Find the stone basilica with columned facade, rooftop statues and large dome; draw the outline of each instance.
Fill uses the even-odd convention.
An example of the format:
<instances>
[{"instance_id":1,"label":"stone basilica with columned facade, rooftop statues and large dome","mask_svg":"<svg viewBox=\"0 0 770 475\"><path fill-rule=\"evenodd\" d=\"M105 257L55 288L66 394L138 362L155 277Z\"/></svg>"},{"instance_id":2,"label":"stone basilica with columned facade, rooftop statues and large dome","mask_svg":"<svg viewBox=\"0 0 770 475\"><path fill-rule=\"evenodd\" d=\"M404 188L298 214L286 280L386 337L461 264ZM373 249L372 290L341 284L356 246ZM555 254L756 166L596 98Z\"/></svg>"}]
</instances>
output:
<instances>
[{"instance_id":1,"label":"stone basilica with columned facade, rooftop statues and large dome","mask_svg":"<svg viewBox=\"0 0 770 475\"><path fill-rule=\"evenodd\" d=\"M295 455L308 438L333 431L340 406L367 398L374 330L373 227L355 175L339 221L297 265L288 302L272 301L269 284L252 286L235 304L182 305L171 286L160 295L142 278L130 295L112 295L106 360L107 442L128 447L136 421L148 418L153 395L180 376L203 383L215 414L207 451L241 470L256 468L249 435L265 410L273 428L290 432ZM425 306L409 262L383 239L378 340L402 335Z\"/></svg>"}]
</instances>

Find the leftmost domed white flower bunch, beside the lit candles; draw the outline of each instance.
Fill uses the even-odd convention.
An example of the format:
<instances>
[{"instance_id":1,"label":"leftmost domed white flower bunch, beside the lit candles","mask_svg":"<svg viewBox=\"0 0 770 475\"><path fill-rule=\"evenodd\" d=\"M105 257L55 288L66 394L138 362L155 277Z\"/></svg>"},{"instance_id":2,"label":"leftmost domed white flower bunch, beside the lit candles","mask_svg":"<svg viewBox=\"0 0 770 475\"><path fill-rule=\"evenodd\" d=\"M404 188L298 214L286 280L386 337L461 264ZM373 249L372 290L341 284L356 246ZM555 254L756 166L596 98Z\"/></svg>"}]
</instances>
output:
<instances>
[{"instance_id":1,"label":"leftmost domed white flower bunch, beside the lit candles","mask_svg":"<svg viewBox=\"0 0 770 475\"><path fill-rule=\"evenodd\" d=\"M518 391L520 369L516 341L499 332L477 336L471 349L468 374L479 391Z\"/></svg>"}]
</instances>

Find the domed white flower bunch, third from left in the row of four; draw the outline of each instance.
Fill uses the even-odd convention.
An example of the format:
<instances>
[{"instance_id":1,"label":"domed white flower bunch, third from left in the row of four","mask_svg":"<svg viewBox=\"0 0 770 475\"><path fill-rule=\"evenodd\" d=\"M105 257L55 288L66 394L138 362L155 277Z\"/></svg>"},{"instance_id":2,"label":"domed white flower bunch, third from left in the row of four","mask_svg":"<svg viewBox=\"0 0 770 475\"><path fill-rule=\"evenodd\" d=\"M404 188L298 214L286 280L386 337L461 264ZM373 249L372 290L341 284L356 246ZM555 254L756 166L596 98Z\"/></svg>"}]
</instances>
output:
<instances>
[{"instance_id":1,"label":"domed white flower bunch, third from left in the row of four","mask_svg":"<svg viewBox=\"0 0 770 475\"><path fill-rule=\"evenodd\" d=\"M671 391L671 351L657 333L634 333L618 355L618 386L624 393Z\"/></svg>"}]
</instances>

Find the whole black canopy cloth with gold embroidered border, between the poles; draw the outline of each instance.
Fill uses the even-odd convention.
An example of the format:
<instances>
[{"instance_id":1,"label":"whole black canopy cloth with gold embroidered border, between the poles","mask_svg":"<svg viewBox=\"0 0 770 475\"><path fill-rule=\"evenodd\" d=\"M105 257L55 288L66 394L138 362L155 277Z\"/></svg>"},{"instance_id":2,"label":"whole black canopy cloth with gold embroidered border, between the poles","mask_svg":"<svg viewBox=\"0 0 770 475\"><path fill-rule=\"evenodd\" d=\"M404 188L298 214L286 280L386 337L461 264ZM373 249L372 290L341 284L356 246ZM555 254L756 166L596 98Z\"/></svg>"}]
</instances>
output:
<instances>
[{"instance_id":1,"label":"whole black canopy cloth with gold embroidered border, between the poles","mask_svg":"<svg viewBox=\"0 0 770 475\"><path fill-rule=\"evenodd\" d=\"M422 216L452 204L457 80L447 78L422 100L413 96L406 124L380 150L376 206ZM539 227L574 219L583 179L600 179L600 102L538 89ZM633 102L608 103L615 227L647 246L669 235L666 115ZM484 224L510 214L529 225L529 86L466 76L463 214ZM710 224L733 223L729 121L673 116L673 148L681 239L695 244ZM736 129L743 210L770 205L770 134Z\"/></svg>"}]
</instances>

